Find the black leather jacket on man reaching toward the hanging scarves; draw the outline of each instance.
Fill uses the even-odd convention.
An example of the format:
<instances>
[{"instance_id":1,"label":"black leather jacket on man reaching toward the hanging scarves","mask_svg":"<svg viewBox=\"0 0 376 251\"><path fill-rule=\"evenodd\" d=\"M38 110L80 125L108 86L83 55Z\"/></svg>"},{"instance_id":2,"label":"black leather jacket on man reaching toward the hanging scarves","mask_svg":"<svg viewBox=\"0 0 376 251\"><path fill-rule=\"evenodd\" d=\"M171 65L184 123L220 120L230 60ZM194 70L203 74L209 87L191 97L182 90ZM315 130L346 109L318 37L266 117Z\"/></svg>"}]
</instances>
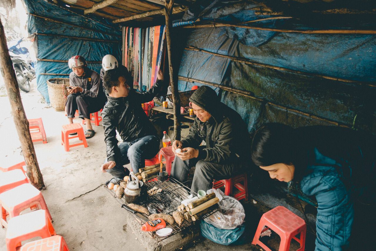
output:
<instances>
[{"instance_id":1,"label":"black leather jacket on man reaching toward the hanging scarves","mask_svg":"<svg viewBox=\"0 0 376 251\"><path fill-rule=\"evenodd\" d=\"M102 111L102 125L105 129L107 160L118 162L120 151L117 146L115 129L124 142L132 142L147 135L156 135L157 131L146 116L141 103L149 102L163 86L158 80L149 91L136 93L131 90L127 97L107 96L108 102Z\"/></svg>"}]
</instances>

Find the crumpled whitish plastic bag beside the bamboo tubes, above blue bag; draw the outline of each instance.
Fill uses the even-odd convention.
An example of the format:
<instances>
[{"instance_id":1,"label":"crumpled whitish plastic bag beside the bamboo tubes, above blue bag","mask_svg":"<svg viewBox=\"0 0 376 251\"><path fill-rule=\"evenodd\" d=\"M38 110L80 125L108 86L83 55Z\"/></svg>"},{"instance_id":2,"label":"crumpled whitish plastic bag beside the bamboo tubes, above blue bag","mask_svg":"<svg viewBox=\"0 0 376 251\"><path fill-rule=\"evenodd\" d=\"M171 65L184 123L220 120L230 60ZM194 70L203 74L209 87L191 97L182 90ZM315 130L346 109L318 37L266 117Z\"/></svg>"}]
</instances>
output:
<instances>
[{"instance_id":1,"label":"crumpled whitish plastic bag beside the bamboo tubes, above blue bag","mask_svg":"<svg viewBox=\"0 0 376 251\"><path fill-rule=\"evenodd\" d=\"M220 189L209 189L206 194L215 193L219 199L218 212L215 212L204 221L219 229L234 229L244 222L246 214L243 205L235 198L226 196Z\"/></svg>"}]
</instances>

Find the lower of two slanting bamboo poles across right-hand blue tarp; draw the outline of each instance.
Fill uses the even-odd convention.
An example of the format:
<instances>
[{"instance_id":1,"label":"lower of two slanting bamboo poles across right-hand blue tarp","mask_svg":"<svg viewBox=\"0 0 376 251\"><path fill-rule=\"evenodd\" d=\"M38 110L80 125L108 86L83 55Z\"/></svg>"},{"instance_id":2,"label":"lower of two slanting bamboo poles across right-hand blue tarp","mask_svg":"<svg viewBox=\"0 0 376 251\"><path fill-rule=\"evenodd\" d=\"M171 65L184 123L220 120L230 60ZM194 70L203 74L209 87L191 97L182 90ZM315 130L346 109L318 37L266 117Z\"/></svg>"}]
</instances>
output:
<instances>
[{"instance_id":1,"label":"lower of two slanting bamboo poles across right-hand blue tarp","mask_svg":"<svg viewBox=\"0 0 376 251\"><path fill-rule=\"evenodd\" d=\"M201 84L205 84L205 85L211 85L211 86L214 86L214 87L221 88L221 89L223 89L225 91L230 91L232 93L237 93L237 94L240 94L240 95L242 95L244 97L248 97L250 99L254 99L254 100L257 100L259 102L266 103L268 105L272 105L272 106L278 107L278 108L280 108L282 110L290 111L290 112L293 112L293 113L297 113L299 115L303 115L303 116L309 117L311 119L321 120L323 122L326 122L326 123L329 123L329 124L335 125L335 126L340 126L340 127L345 127L345 128L351 128L351 126L345 125L343 123L339 123L339 122L336 122L336 121L333 121L333 120L329 120L329 119L325 119L325 118L322 118L322 117L318 117L318 116L315 116L315 115L310 114L310 113L305 113L305 112L302 112L302 111L299 111L299 110L296 110L296 109L293 109L293 108L289 108L287 106L278 105L276 103L269 102L269 101L267 101L265 99L261 99L259 97L255 97L255 96L253 96L253 94L252 95L251 94L246 94L246 93L244 93L243 90L240 90L240 89L237 89L237 88L224 87L223 85L218 85L218 84L215 84L215 83L206 82L206 81L202 81L202 80L198 80L198 79L186 78L186 77L182 77L182 76L179 76L179 79L183 80L183 81L186 81L186 82L191 82L191 83L197 82L197 83L201 83Z\"/></svg>"}]
</instances>

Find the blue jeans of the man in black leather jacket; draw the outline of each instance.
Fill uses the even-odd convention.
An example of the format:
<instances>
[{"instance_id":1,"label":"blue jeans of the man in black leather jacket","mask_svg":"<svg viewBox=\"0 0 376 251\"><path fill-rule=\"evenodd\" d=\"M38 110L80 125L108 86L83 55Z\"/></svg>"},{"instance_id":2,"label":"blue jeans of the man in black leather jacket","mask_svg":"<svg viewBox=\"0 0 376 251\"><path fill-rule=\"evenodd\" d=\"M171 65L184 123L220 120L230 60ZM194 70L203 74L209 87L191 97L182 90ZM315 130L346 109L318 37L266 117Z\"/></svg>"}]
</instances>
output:
<instances>
[{"instance_id":1,"label":"blue jeans of the man in black leather jacket","mask_svg":"<svg viewBox=\"0 0 376 251\"><path fill-rule=\"evenodd\" d=\"M124 176L129 175L129 171L124 168L124 165L130 163L133 172L138 173L138 169L145 167L145 160L153 158L158 153L159 143L159 138L154 135L147 135L132 142L120 143L118 148L121 156L117 158L120 161L107 172L116 178L123 179Z\"/></svg>"}]
</instances>

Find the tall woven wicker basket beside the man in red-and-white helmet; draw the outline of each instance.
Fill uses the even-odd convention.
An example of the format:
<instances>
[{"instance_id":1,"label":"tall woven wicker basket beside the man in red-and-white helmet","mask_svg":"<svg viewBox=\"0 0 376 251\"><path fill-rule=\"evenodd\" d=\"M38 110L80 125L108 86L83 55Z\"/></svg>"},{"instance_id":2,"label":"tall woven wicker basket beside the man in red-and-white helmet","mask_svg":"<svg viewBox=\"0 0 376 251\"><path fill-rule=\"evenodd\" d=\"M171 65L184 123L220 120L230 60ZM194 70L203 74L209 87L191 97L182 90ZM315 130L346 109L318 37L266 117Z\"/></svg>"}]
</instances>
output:
<instances>
[{"instance_id":1,"label":"tall woven wicker basket beside the man in red-and-white helmet","mask_svg":"<svg viewBox=\"0 0 376 251\"><path fill-rule=\"evenodd\" d=\"M65 101L67 101L69 86L68 78L52 78L47 80L48 94L50 102L55 111L65 110Z\"/></svg>"}]
</instances>

